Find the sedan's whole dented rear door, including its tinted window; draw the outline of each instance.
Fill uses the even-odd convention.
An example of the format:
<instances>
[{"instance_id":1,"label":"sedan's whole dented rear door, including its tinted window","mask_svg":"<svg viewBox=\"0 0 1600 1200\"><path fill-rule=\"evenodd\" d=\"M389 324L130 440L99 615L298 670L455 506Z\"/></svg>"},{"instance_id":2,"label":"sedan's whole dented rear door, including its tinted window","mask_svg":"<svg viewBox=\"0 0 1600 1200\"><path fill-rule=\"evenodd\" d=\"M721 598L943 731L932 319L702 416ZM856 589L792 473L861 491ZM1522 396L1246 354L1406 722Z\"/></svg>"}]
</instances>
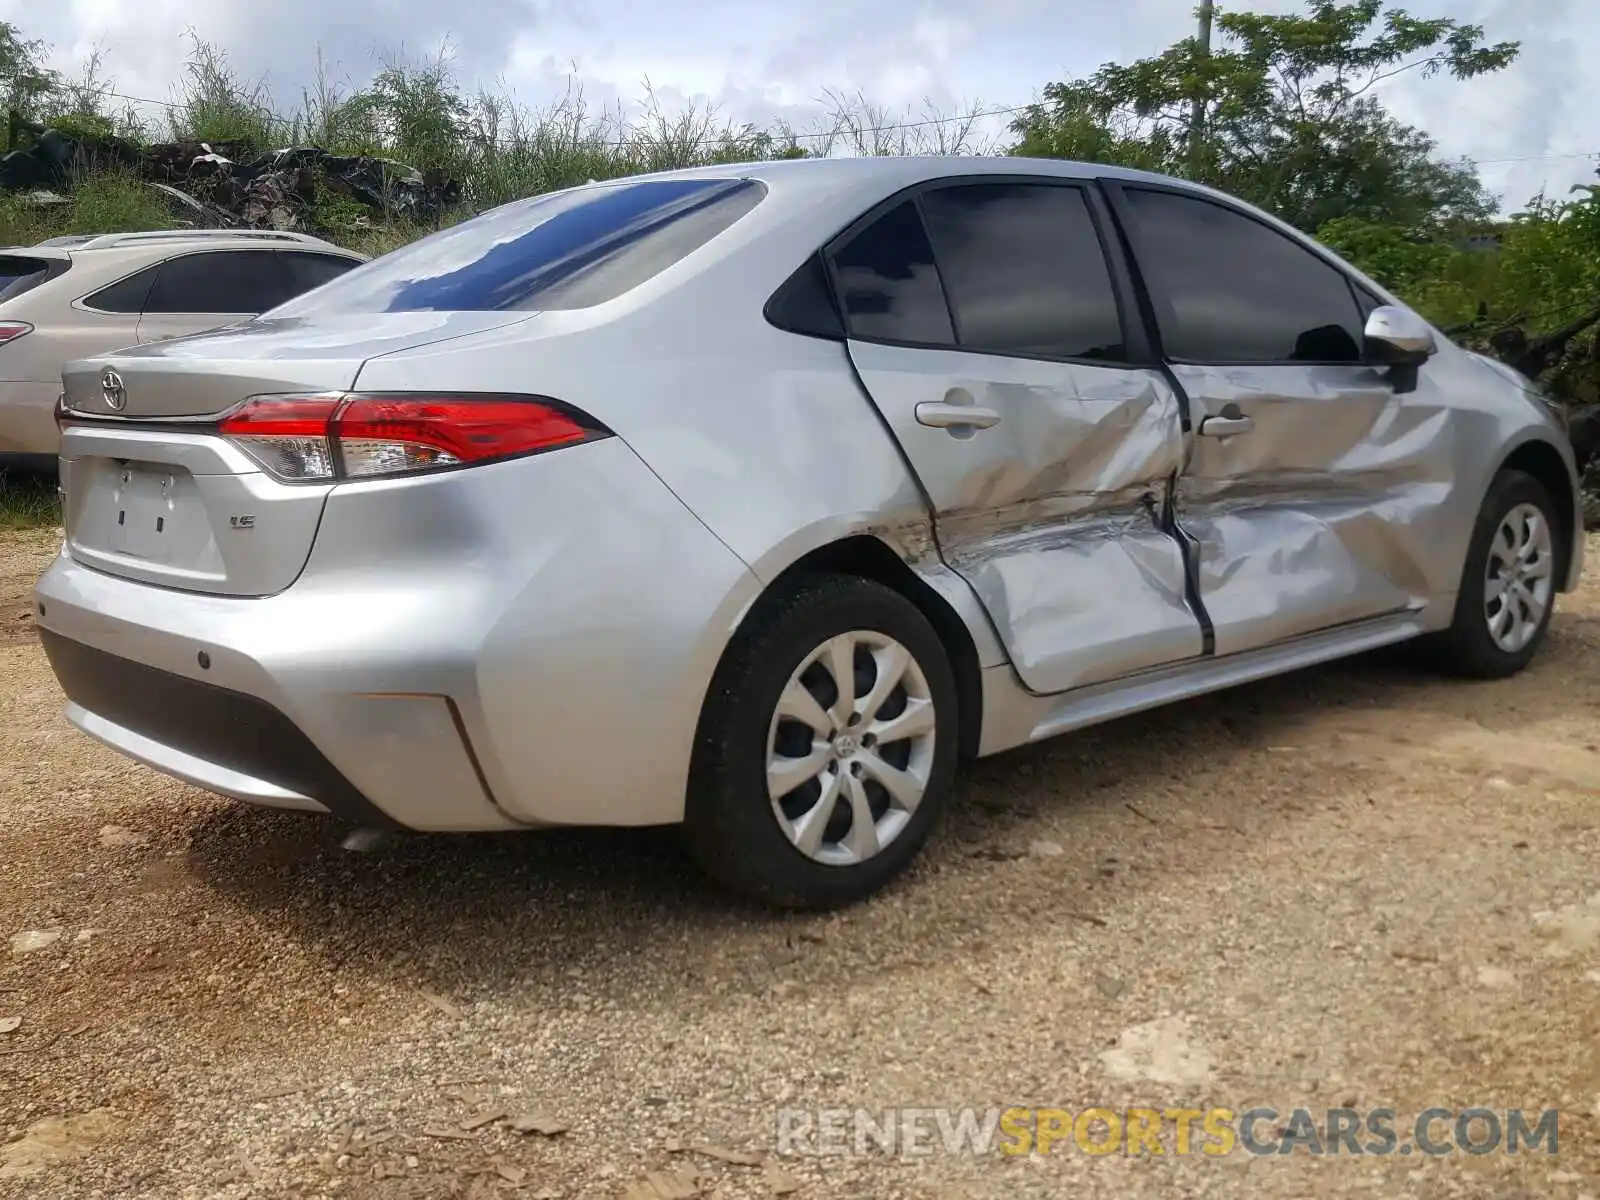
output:
<instances>
[{"instance_id":1,"label":"sedan's whole dented rear door, including its tinted window","mask_svg":"<svg viewBox=\"0 0 1600 1200\"><path fill-rule=\"evenodd\" d=\"M1166 498L1176 394L1075 181L946 179L846 229L850 357L1024 685L1059 693L1203 653Z\"/></svg>"}]
</instances>

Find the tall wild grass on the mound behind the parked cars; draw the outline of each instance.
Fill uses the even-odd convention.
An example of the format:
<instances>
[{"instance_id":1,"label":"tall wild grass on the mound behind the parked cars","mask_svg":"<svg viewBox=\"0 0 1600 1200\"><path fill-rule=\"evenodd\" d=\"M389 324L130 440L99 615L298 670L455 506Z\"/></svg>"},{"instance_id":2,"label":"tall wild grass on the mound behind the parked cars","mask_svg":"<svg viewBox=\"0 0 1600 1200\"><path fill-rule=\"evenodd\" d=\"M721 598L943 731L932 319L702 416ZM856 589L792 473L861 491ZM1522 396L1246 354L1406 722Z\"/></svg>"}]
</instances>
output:
<instances>
[{"instance_id":1,"label":"tall wild grass on the mound behind the parked cars","mask_svg":"<svg viewBox=\"0 0 1600 1200\"><path fill-rule=\"evenodd\" d=\"M3 24L0 24L3 27ZM536 110L504 91L472 91L454 75L448 51L435 58L389 56L362 83L336 78L318 56L317 82L298 110L275 112L264 82L242 78L226 51L192 37L174 99L157 118L106 107L115 80L91 54L77 83L51 77L21 115L35 128L115 131L133 142L229 142L240 160L283 146L320 146L341 155L376 155L434 178L456 179L461 205L451 224L509 200L642 171L795 158L829 154L971 154L1002 147L976 133L978 107L954 117L894 114L862 96L829 94L832 112L814 128L731 123L691 102L669 110L651 90L634 106L595 107L582 90ZM890 128L896 122L907 128ZM893 136L890 136L893 133ZM26 134L29 138L32 134ZM18 149L26 149L27 141ZM110 234L176 224L166 200L126 173L88 171L64 189L70 203L37 206L0 197L0 245L30 245L62 234ZM382 253L432 232L403 214L370 214L323 189L306 214L309 232L365 253Z\"/></svg>"}]
</instances>

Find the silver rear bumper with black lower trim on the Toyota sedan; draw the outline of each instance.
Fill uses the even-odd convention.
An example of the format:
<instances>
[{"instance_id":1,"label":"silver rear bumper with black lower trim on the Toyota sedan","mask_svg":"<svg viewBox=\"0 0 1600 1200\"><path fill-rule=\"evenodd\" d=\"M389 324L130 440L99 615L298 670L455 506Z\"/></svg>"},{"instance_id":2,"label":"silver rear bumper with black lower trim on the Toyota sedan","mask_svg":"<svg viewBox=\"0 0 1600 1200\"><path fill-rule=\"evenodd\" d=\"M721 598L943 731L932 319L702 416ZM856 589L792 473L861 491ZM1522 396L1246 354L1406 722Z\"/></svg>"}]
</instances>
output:
<instances>
[{"instance_id":1,"label":"silver rear bumper with black lower trim on the Toyota sedan","mask_svg":"<svg viewBox=\"0 0 1600 1200\"><path fill-rule=\"evenodd\" d=\"M286 590L56 558L69 718L251 803L494 830L682 819L694 726L758 584L619 440L334 488Z\"/></svg>"}]
</instances>

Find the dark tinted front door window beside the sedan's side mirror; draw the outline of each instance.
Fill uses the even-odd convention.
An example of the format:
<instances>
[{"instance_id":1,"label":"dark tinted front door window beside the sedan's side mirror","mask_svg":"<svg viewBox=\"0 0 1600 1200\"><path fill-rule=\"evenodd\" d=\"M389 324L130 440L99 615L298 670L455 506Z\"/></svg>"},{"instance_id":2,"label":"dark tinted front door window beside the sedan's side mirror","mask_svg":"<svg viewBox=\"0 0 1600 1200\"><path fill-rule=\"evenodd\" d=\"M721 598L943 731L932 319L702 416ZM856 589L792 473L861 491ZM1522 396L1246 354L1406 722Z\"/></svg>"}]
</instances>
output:
<instances>
[{"instance_id":1,"label":"dark tinted front door window beside the sedan's side mirror","mask_svg":"<svg viewBox=\"0 0 1600 1200\"><path fill-rule=\"evenodd\" d=\"M1187 362L1358 362L1344 275L1274 229L1170 192L1125 192L1162 342Z\"/></svg>"}]
</instances>

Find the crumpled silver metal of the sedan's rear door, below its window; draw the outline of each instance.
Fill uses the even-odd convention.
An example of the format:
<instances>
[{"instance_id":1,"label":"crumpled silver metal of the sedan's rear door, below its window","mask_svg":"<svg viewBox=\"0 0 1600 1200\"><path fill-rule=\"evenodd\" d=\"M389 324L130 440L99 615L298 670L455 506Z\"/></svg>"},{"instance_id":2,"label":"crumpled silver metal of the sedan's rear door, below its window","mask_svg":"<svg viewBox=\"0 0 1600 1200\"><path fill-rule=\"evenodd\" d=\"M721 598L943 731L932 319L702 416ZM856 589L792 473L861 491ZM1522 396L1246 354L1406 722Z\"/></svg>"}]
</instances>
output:
<instances>
[{"instance_id":1,"label":"crumpled silver metal of the sedan's rear door, below its window","mask_svg":"<svg viewBox=\"0 0 1600 1200\"><path fill-rule=\"evenodd\" d=\"M1155 371L851 342L851 358L934 509L944 560L1037 693L1198 656L1179 542L1162 528L1182 461ZM952 435L918 403L1000 416Z\"/></svg>"}]
</instances>

